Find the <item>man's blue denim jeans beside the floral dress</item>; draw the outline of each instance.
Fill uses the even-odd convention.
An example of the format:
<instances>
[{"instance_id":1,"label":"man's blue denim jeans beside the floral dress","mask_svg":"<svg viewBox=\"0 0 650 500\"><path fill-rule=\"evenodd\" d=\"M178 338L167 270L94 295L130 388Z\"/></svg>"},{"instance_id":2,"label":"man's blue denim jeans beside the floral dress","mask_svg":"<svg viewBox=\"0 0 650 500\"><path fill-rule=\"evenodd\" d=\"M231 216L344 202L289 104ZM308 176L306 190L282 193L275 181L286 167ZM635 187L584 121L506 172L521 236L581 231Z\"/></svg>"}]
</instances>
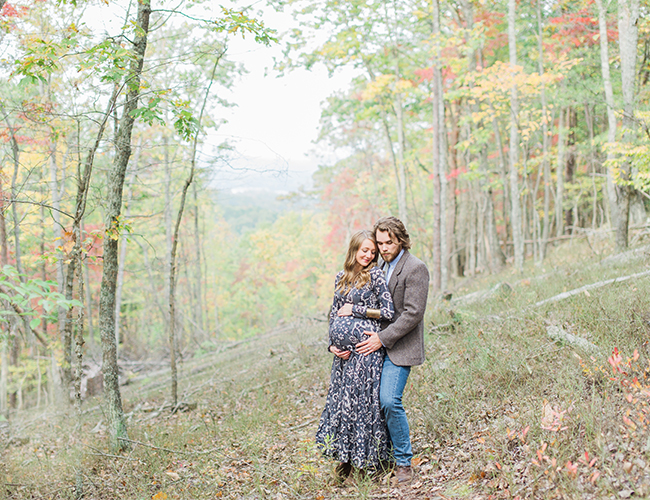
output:
<instances>
[{"instance_id":1,"label":"man's blue denim jeans beside the floral dress","mask_svg":"<svg viewBox=\"0 0 650 500\"><path fill-rule=\"evenodd\" d=\"M395 463L398 466L411 465L411 458L413 458L409 423L402 406L402 394L404 394L404 387L406 387L410 373L410 366L397 366L388 358L388 355L384 358L379 401L393 444Z\"/></svg>"}]
</instances>

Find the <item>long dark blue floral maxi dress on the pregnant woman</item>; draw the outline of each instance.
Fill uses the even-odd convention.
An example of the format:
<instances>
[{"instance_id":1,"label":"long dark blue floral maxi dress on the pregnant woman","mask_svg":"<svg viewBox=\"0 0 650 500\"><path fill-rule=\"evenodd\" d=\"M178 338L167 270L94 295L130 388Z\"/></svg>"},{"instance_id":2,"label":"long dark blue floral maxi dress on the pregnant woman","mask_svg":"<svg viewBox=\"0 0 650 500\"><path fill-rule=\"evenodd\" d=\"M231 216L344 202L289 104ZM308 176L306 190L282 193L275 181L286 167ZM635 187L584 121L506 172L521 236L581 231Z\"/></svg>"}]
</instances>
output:
<instances>
[{"instance_id":1,"label":"long dark blue floral maxi dress on the pregnant woman","mask_svg":"<svg viewBox=\"0 0 650 500\"><path fill-rule=\"evenodd\" d=\"M336 275L335 289L343 271ZM370 270L370 281L347 294L337 290L330 312L329 342L350 351L343 360L334 356L330 388L321 415L316 444L323 454L358 468L372 468L389 458L388 429L379 405L379 383L385 349L364 356L356 344L368 337L364 331L379 331L379 321L366 317L367 309L379 309L381 320L393 318L393 300L378 267ZM352 303L352 316L337 316Z\"/></svg>"}]
</instances>

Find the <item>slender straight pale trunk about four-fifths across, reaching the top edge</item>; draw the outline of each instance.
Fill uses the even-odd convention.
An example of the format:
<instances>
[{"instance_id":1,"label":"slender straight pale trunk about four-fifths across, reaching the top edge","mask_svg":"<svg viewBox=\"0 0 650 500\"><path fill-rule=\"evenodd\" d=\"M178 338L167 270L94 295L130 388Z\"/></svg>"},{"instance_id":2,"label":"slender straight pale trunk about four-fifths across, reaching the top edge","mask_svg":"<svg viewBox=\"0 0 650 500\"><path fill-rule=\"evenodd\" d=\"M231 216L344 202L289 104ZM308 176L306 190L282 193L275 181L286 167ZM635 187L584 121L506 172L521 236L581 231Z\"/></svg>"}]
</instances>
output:
<instances>
[{"instance_id":1,"label":"slender straight pale trunk about four-fifths across, reaching the top edge","mask_svg":"<svg viewBox=\"0 0 650 500\"><path fill-rule=\"evenodd\" d=\"M517 66L517 30L515 28L516 0L508 0L508 48L510 52L510 68L513 73ZM524 238L522 235L521 201L519 199L519 100L517 84L513 81L510 89L510 202L512 205L512 241L514 243L515 269L524 268Z\"/></svg>"}]
</instances>

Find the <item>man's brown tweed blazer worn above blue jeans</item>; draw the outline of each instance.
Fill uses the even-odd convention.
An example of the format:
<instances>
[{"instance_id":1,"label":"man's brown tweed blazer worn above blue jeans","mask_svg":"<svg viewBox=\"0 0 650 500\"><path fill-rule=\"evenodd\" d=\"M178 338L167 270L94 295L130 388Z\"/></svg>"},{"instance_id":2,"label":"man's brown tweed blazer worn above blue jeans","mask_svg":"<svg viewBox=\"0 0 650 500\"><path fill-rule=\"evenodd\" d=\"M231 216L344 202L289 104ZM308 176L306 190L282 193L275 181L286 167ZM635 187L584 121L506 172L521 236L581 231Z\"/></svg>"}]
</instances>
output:
<instances>
[{"instance_id":1,"label":"man's brown tweed blazer worn above blue jeans","mask_svg":"<svg viewBox=\"0 0 650 500\"><path fill-rule=\"evenodd\" d=\"M404 251L388 283L395 317L381 325L379 339L398 366L424 363L424 311L429 293L429 270L420 259Z\"/></svg>"}]
</instances>

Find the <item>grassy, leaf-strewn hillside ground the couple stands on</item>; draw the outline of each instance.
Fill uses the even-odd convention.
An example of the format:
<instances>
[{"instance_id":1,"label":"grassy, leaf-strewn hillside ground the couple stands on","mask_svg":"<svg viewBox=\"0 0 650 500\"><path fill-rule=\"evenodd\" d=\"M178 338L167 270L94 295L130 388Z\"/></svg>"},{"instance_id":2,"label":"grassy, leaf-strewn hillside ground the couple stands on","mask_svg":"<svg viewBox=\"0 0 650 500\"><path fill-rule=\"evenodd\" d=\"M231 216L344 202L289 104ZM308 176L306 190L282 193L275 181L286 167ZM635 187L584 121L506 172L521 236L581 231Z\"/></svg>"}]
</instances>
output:
<instances>
[{"instance_id":1,"label":"grassy, leaf-strewn hillside ground the couple stands on","mask_svg":"<svg viewBox=\"0 0 650 500\"><path fill-rule=\"evenodd\" d=\"M648 497L650 279L639 273L650 249L593 248L567 243L525 277L478 276L451 302L431 300L427 361L404 400L408 485L339 485L315 449L331 363L323 315L185 360L174 413L168 371L125 373L126 452L108 448L100 398L81 416L13 415L0 428L0 498Z\"/></svg>"}]
</instances>

